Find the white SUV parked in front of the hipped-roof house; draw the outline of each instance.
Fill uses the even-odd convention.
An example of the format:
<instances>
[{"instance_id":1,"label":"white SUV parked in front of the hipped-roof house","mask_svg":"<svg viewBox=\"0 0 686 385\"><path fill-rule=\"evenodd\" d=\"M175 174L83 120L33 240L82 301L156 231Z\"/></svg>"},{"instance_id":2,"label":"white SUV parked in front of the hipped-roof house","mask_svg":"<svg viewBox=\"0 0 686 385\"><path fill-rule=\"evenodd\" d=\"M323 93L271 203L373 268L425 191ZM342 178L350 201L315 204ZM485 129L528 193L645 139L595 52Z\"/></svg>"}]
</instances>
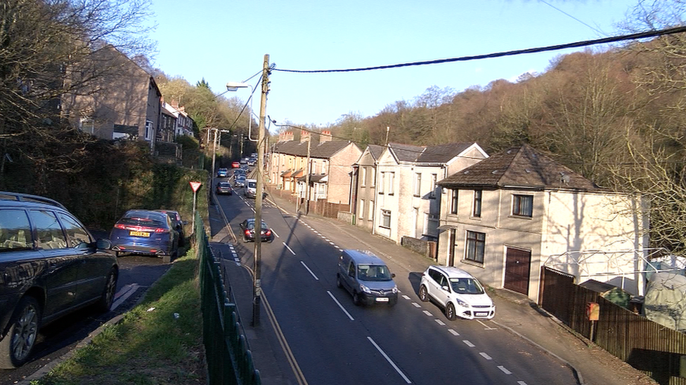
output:
<instances>
[{"instance_id":1,"label":"white SUV parked in front of the hipped-roof house","mask_svg":"<svg viewBox=\"0 0 686 385\"><path fill-rule=\"evenodd\" d=\"M452 266L429 266L422 274L419 298L423 302L433 299L446 311L446 317L491 319L496 305L486 290L470 273Z\"/></svg>"}]
</instances>

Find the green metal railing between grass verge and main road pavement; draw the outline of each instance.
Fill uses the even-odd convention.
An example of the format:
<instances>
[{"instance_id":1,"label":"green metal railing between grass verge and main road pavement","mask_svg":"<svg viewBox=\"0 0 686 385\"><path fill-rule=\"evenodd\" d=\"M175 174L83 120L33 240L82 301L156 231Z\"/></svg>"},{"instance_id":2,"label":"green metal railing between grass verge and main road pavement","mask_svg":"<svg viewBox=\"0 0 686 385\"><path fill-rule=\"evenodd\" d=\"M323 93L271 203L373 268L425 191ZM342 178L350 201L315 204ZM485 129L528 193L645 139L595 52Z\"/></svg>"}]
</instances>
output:
<instances>
[{"instance_id":1,"label":"green metal railing between grass verge and main road pavement","mask_svg":"<svg viewBox=\"0 0 686 385\"><path fill-rule=\"evenodd\" d=\"M200 215L195 215L195 241L200 259L202 335L209 385L260 385L259 370L242 332L240 318L229 287L221 276L221 261L207 242Z\"/></svg>"}]
</instances>

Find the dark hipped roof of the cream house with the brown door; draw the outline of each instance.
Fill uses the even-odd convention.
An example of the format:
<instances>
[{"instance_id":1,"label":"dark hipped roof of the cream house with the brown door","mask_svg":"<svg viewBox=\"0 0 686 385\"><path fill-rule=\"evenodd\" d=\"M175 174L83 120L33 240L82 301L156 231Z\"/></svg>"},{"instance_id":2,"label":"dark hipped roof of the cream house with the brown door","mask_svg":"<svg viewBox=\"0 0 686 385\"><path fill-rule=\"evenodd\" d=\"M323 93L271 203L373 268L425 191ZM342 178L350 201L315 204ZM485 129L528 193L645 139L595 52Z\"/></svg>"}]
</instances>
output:
<instances>
[{"instance_id":1,"label":"dark hipped roof of the cream house with the brown door","mask_svg":"<svg viewBox=\"0 0 686 385\"><path fill-rule=\"evenodd\" d=\"M492 155L437 183L441 187L567 189L604 191L529 144Z\"/></svg>"}]
</instances>

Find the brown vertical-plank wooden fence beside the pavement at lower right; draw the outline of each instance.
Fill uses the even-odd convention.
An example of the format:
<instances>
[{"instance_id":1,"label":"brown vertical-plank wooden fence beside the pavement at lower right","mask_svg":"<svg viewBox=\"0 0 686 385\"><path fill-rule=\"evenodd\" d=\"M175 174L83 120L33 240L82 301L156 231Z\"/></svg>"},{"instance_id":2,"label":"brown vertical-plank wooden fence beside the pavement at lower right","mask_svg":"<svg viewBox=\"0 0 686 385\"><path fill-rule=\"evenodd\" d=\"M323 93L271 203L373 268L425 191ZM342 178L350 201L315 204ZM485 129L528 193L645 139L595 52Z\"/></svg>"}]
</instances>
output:
<instances>
[{"instance_id":1,"label":"brown vertical-plank wooden fence beside the pavement at lower right","mask_svg":"<svg viewBox=\"0 0 686 385\"><path fill-rule=\"evenodd\" d=\"M545 266L542 270L540 302L545 311L659 384L686 385L686 334L575 285L566 273ZM600 304L600 318L593 327L586 315L588 302Z\"/></svg>"}]
</instances>

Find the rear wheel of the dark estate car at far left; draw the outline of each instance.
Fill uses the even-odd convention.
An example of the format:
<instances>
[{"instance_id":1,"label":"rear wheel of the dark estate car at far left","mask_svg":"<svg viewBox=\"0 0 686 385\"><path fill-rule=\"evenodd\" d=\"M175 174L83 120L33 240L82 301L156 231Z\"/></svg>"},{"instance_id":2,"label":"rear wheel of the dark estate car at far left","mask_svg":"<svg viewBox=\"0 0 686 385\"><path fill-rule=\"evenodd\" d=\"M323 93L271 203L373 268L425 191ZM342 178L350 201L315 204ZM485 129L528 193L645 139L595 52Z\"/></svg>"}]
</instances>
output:
<instances>
[{"instance_id":1,"label":"rear wheel of the dark estate car at far left","mask_svg":"<svg viewBox=\"0 0 686 385\"><path fill-rule=\"evenodd\" d=\"M0 340L0 367L20 367L29 358L36 343L41 308L34 297L24 297L10 320L7 335Z\"/></svg>"}]
</instances>

